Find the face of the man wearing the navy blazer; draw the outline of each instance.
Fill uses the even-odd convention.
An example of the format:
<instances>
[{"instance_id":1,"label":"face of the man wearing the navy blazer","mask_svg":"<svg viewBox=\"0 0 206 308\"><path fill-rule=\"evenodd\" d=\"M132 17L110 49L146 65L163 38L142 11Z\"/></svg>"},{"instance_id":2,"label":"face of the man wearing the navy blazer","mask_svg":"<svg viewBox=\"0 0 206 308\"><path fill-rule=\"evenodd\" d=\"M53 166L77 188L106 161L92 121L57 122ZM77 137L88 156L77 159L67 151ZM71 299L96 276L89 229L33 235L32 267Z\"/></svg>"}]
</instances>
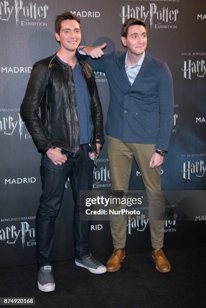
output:
<instances>
[{"instance_id":1,"label":"face of the man wearing the navy blazer","mask_svg":"<svg viewBox=\"0 0 206 308\"><path fill-rule=\"evenodd\" d=\"M127 36L122 36L121 41L127 48L128 54L141 56L147 47L147 31L141 25L130 26Z\"/></svg>"}]
</instances>

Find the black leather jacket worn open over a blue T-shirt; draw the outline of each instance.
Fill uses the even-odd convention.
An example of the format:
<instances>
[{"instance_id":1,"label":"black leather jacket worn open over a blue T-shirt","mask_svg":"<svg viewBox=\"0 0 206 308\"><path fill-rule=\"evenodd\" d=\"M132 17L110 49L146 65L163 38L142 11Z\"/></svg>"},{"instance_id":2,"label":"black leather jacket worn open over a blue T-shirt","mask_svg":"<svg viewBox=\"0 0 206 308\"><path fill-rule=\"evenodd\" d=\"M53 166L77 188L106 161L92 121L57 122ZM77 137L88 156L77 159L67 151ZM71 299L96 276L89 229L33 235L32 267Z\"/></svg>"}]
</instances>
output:
<instances>
[{"instance_id":1,"label":"black leather jacket worn open over a blue T-shirt","mask_svg":"<svg viewBox=\"0 0 206 308\"><path fill-rule=\"evenodd\" d=\"M91 65L80 59L79 62L90 95L90 143L96 151L96 139L104 142L102 108ZM20 114L39 152L57 146L72 157L79 156L80 129L72 68L63 65L56 54L34 64Z\"/></svg>"}]
</instances>

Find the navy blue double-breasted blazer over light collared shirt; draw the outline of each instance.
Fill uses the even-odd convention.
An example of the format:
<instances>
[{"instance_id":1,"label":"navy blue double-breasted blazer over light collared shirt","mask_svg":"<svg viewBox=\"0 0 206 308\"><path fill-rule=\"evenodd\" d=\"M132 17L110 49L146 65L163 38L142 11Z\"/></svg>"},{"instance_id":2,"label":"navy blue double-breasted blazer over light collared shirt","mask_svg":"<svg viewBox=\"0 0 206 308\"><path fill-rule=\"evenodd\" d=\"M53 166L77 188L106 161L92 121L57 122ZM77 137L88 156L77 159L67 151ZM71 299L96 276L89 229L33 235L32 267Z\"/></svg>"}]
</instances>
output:
<instances>
[{"instance_id":1,"label":"navy blue double-breasted blazer over light collared shirt","mask_svg":"<svg viewBox=\"0 0 206 308\"><path fill-rule=\"evenodd\" d=\"M148 52L132 86L125 71L126 53L85 58L95 71L105 72L110 103L106 133L124 142L155 143L167 150L173 125L173 82L167 64Z\"/></svg>"}]
</instances>

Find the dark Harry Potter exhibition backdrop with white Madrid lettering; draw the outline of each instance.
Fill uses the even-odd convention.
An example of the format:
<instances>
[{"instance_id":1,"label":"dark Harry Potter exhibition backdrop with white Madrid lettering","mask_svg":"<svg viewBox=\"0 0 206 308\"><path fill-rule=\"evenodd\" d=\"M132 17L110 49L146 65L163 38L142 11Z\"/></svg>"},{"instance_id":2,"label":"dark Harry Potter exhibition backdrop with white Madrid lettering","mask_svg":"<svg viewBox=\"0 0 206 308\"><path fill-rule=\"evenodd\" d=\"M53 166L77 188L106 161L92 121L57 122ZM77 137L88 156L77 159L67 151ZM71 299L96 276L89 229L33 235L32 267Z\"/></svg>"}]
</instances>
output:
<instances>
[{"instance_id":1,"label":"dark Harry Potter exhibition backdrop with white Madrid lettering","mask_svg":"<svg viewBox=\"0 0 206 308\"><path fill-rule=\"evenodd\" d=\"M0 1L0 266L35 263L35 215L41 195L40 154L20 117L33 63L58 49L55 16L71 11L82 23L82 44L107 43L105 52L124 51L122 23L136 17L148 28L147 50L167 62L174 82L175 108L169 151L162 166L164 190L206 188L206 26L205 0L1 0ZM109 89L95 72L106 122ZM121 166L119 166L121 168ZM94 170L94 190L110 190L107 141ZM135 162L130 190L144 189ZM55 226L54 260L74 258L73 198L70 180ZM193 202L195 209L196 203ZM179 219L178 219L179 218ZM166 215L165 249L204 245L205 213L182 221L175 209ZM112 249L109 221L93 221L91 250ZM148 219L128 216L127 252L151 249Z\"/></svg>"}]
</instances>

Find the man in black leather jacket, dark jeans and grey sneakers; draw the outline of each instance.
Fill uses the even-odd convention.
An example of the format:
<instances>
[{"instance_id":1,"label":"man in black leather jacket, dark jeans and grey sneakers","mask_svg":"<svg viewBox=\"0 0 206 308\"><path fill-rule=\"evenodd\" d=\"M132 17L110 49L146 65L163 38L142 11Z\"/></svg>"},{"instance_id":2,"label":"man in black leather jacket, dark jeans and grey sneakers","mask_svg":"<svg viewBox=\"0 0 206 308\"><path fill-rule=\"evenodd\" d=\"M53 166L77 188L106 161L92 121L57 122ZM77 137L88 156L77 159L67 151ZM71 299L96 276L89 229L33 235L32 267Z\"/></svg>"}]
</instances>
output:
<instances>
[{"instance_id":1,"label":"man in black leather jacket, dark jeans and grey sneakers","mask_svg":"<svg viewBox=\"0 0 206 308\"><path fill-rule=\"evenodd\" d=\"M73 234L76 265L93 273L106 267L89 252L91 221L80 219L79 194L92 189L93 161L104 142L102 108L92 67L76 57L80 20L70 12L56 17L56 54L32 68L21 116L41 152L42 195L36 215L38 287L53 291L51 251L54 222L65 182L70 178L75 201Z\"/></svg>"}]
</instances>

